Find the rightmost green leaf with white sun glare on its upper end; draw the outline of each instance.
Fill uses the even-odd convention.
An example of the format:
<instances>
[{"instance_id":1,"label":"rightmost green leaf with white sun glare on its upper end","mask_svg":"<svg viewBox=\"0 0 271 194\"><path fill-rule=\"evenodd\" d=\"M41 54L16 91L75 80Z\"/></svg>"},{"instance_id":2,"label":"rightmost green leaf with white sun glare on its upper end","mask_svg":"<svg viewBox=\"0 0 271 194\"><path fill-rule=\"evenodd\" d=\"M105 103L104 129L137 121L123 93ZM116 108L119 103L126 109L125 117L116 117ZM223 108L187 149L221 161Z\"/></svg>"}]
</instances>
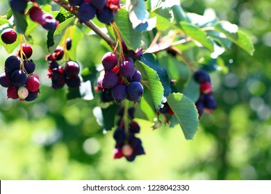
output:
<instances>
[{"instance_id":1,"label":"rightmost green leaf with white sun glare on its upper end","mask_svg":"<svg viewBox=\"0 0 271 194\"><path fill-rule=\"evenodd\" d=\"M238 26L229 21L218 21L214 27L215 30L226 35L231 42L243 48L249 55L253 55L255 48L252 40L243 31L238 30Z\"/></svg>"}]
</instances>

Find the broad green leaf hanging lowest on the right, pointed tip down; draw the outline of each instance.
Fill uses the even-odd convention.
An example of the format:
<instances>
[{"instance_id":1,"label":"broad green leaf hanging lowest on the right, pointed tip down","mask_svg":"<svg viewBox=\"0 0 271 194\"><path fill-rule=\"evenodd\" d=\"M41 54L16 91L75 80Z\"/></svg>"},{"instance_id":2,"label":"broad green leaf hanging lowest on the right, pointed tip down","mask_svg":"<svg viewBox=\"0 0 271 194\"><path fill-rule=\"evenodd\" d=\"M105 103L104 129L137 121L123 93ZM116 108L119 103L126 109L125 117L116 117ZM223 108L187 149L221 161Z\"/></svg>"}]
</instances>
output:
<instances>
[{"instance_id":1,"label":"broad green leaf hanging lowest on the right, pointed tip down","mask_svg":"<svg viewBox=\"0 0 271 194\"><path fill-rule=\"evenodd\" d=\"M167 103L179 121L186 139L193 139L199 124L199 114L195 104L180 93L170 94L167 97Z\"/></svg>"}]
</instances>

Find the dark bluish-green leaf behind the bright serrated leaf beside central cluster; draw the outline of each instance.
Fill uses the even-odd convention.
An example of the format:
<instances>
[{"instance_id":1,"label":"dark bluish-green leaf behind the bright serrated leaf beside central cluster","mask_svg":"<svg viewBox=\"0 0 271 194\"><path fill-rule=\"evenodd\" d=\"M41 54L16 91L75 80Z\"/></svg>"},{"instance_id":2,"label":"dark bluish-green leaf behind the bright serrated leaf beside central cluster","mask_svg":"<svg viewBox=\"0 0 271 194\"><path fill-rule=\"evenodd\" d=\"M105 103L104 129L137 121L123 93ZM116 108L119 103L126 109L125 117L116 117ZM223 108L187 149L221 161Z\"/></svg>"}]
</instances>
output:
<instances>
[{"instance_id":1,"label":"dark bluish-green leaf behind the bright serrated leaf beside central cluster","mask_svg":"<svg viewBox=\"0 0 271 194\"><path fill-rule=\"evenodd\" d=\"M156 56L151 53L145 53L140 62L146 64L148 67L151 67L151 69L156 71L164 88L164 96L167 97L171 92L170 78L167 70L160 66Z\"/></svg>"}]
</instances>

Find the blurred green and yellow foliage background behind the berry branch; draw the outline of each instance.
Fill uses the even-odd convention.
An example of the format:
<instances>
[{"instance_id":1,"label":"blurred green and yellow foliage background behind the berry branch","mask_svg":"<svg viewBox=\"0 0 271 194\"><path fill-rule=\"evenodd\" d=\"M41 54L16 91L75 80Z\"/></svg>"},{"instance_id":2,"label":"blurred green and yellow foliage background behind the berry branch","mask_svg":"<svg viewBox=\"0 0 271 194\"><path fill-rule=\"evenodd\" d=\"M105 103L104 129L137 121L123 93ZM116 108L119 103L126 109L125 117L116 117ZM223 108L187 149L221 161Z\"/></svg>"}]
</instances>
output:
<instances>
[{"instance_id":1,"label":"blurred green and yellow foliage background behind the berry branch","mask_svg":"<svg viewBox=\"0 0 271 194\"><path fill-rule=\"evenodd\" d=\"M218 108L204 114L193 141L179 126L151 130L138 120L147 155L133 163L113 159L113 133L103 134L94 103L67 105L67 88L53 91L44 62L46 34L33 35L41 94L33 103L6 100L0 88L0 179L271 179L271 2L181 1L188 12L213 8L220 19L252 36L256 52L237 46L222 55L229 67L211 73ZM1 1L4 15L7 2ZM84 67L101 63L99 39L84 39L77 56ZM8 54L0 48L0 67Z\"/></svg>"}]
</instances>

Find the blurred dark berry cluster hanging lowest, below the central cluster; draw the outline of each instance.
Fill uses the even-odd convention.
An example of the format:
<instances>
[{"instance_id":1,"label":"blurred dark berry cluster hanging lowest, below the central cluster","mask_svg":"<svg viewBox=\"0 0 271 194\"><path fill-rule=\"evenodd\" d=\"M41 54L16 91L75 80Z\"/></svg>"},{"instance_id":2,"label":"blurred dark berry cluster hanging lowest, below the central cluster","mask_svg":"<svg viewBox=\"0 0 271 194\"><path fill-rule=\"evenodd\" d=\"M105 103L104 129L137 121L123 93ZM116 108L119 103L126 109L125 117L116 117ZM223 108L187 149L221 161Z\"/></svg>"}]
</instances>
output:
<instances>
[{"instance_id":1,"label":"blurred dark berry cluster hanging lowest, below the central cluster","mask_svg":"<svg viewBox=\"0 0 271 194\"><path fill-rule=\"evenodd\" d=\"M135 108L131 107L128 109L128 114L130 122L128 125L128 131L125 130L124 126L124 107L121 107L118 116L120 116L119 121L117 121L117 129L115 130L113 137L116 141L114 159L120 159L125 157L127 161L134 161L136 156L145 155L145 150L142 147L142 141L135 136L140 132L140 125L133 121L133 115Z\"/></svg>"}]
</instances>

